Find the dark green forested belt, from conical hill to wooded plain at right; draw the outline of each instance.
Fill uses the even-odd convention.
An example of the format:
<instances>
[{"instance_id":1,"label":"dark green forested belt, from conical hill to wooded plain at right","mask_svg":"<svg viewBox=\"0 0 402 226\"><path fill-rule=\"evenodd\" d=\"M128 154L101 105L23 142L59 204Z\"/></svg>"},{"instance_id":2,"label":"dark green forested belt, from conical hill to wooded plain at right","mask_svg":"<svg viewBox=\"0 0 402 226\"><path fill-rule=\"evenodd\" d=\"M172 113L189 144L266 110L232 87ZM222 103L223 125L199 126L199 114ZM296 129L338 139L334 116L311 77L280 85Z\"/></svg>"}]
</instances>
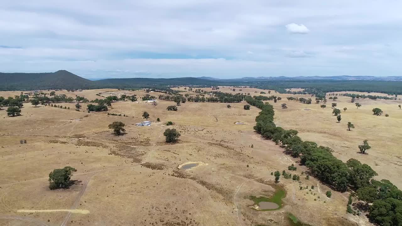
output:
<instances>
[{"instance_id":1,"label":"dark green forested belt, from conical hill to wooded plain at right","mask_svg":"<svg viewBox=\"0 0 402 226\"><path fill-rule=\"evenodd\" d=\"M267 78L269 79L269 77ZM402 95L401 81L363 80L261 80L243 81L233 79L208 80L203 78L111 78L90 81L66 70L50 73L0 73L0 90L48 90L48 89L95 89L95 88L158 88L162 86L251 86L277 90L285 88L310 88L317 92L360 91L382 92Z\"/></svg>"}]
</instances>

